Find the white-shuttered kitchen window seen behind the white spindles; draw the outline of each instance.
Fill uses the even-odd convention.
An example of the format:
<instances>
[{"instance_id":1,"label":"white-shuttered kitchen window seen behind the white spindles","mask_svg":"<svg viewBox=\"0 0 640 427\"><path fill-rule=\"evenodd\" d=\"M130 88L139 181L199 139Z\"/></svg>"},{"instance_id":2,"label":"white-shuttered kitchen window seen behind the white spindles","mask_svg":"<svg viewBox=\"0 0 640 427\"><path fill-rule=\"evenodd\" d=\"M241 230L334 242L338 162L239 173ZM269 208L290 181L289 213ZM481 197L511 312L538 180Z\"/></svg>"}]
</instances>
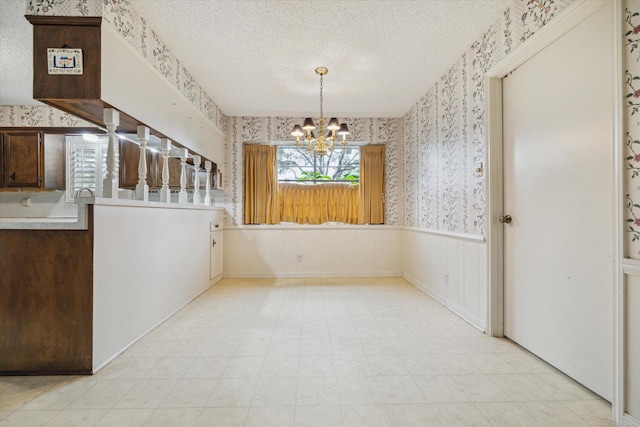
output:
<instances>
[{"instance_id":1,"label":"white-shuttered kitchen window seen behind the white spindles","mask_svg":"<svg viewBox=\"0 0 640 427\"><path fill-rule=\"evenodd\" d=\"M108 138L101 136L97 141L87 141L80 135L69 135L67 148L67 200L73 201L76 193L83 188L102 194L102 180L107 175ZM118 175L118 144L116 143L116 177ZM85 195L86 192L84 193Z\"/></svg>"}]
</instances>

